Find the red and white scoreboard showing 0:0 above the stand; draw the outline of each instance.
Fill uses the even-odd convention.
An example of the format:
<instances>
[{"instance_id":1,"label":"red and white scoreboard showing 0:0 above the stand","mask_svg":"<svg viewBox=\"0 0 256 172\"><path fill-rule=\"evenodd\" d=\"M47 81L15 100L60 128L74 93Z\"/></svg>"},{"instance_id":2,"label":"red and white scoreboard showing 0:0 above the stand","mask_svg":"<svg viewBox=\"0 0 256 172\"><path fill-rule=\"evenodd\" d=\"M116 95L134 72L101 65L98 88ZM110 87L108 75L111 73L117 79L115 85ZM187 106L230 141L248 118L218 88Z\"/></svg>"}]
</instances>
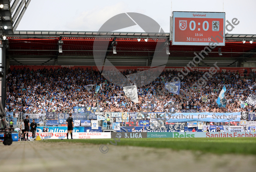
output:
<instances>
[{"instance_id":1,"label":"red and white scoreboard showing 0:0 above the stand","mask_svg":"<svg viewBox=\"0 0 256 172\"><path fill-rule=\"evenodd\" d=\"M225 45L224 12L173 11L170 21L172 45Z\"/></svg>"}]
</instances>

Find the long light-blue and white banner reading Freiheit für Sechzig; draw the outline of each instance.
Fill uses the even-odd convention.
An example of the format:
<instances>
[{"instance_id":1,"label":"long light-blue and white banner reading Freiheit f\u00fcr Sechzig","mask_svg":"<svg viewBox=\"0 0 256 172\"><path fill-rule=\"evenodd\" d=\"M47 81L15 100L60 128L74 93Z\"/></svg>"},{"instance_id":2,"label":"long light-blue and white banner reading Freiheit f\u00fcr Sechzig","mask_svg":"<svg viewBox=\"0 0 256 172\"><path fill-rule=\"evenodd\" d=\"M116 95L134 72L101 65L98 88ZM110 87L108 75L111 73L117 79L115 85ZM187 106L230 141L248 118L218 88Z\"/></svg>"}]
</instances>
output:
<instances>
[{"instance_id":1,"label":"long light-blue and white banner reading Freiheit f\u00fcr Sechzig","mask_svg":"<svg viewBox=\"0 0 256 172\"><path fill-rule=\"evenodd\" d=\"M239 122L241 118L241 113L175 113L169 114L169 116L166 114L166 118L168 119L167 122Z\"/></svg>"}]
</instances>

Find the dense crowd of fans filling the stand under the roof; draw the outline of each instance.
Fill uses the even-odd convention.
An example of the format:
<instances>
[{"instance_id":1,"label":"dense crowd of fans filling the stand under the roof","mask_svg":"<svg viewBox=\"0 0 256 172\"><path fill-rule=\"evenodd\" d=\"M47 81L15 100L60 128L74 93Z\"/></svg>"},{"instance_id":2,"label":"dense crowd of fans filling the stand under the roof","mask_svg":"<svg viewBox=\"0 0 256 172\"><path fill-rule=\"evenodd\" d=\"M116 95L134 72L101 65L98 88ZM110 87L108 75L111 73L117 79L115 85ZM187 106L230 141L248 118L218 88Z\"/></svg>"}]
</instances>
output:
<instances>
[{"instance_id":1,"label":"dense crowd of fans filling the stand under the roof","mask_svg":"<svg viewBox=\"0 0 256 172\"><path fill-rule=\"evenodd\" d=\"M100 73L88 68L50 70L14 68L8 70L6 76L5 110L16 113L69 113L73 111L74 106L96 108L99 102L98 107L103 112L170 112L174 111L171 104L178 102L181 105L181 107L176 105L179 109L196 109L197 112L254 112L250 106L241 108L240 101L245 101L250 93L256 91L256 82L246 77L241 79L238 71L215 73L209 78L206 86L196 92L192 90L192 96L187 97L187 100L165 89L165 83L177 76L178 71L163 71L159 76L151 76L152 73L149 72L138 72L139 75L132 75L137 72L126 70L122 73L116 71ZM183 97L185 97L184 92L189 92L187 87L191 88L203 74L204 72L191 71L184 76L180 90ZM103 75L109 77L111 82L107 81ZM133 79L130 76L133 76ZM118 86L120 84L127 86L131 81L137 85L139 103L134 103L125 97L122 86ZM147 84L148 81L150 81L149 84ZM85 87L91 84L101 85L98 94L95 93L95 88ZM225 108L219 108L216 101L224 85L227 90L225 94L227 105ZM203 102L203 96L207 97L207 102Z\"/></svg>"}]
</instances>

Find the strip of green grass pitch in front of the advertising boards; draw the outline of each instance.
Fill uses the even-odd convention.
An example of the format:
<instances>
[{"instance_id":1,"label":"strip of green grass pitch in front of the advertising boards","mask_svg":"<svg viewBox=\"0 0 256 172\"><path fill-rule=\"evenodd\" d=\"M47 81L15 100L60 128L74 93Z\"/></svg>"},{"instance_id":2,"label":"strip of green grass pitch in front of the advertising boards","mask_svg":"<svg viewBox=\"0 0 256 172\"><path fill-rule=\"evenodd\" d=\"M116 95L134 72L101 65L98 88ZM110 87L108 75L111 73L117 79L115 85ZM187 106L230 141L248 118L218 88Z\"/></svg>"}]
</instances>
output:
<instances>
[{"instance_id":1,"label":"strip of green grass pitch in front of the advertising boards","mask_svg":"<svg viewBox=\"0 0 256 172\"><path fill-rule=\"evenodd\" d=\"M118 139L117 139L118 140ZM69 142L83 144L112 145L111 139L48 139L43 142ZM256 155L256 138L121 138L117 146L140 146L170 148L173 150L193 150L203 153L235 153Z\"/></svg>"}]
</instances>

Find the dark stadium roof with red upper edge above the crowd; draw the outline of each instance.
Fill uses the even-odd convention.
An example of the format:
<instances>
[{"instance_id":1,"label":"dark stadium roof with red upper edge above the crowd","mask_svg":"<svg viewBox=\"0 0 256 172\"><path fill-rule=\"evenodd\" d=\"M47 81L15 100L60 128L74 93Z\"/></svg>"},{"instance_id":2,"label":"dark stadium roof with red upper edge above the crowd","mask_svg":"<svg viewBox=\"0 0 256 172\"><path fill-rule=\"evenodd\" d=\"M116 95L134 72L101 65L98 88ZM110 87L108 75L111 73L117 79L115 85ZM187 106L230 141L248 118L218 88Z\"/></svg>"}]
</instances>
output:
<instances>
[{"instance_id":1,"label":"dark stadium roof with red upper edge above the crowd","mask_svg":"<svg viewBox=\"0 0 256 172\"><path fill-rule=\"evenodd\" d=\"M107 58L117 66L150 66L156 46L155 40L165 43L168 33L122 33L122 32L66 32L66 31L16 31L7 37L9 48L7 58L10 65L85 65L95 66L93 42L95 38L111 42L117 41L116 51L109 49ZM59 53L59 40L63 41ZM138 42L138 38L141 39ZM146 42L144 39L148 39ZM239 67L241 62L256 60L256 43L248 41L256 35L226 35L225 46L218 47L205 56L199 66L212 66L219 61L222 66ZM246 43L242 43L246 40ZM100 46L100 45L98 45ZM167 66L186 66L205 46L170 45Z\"/></svg>"}]
</instances>

